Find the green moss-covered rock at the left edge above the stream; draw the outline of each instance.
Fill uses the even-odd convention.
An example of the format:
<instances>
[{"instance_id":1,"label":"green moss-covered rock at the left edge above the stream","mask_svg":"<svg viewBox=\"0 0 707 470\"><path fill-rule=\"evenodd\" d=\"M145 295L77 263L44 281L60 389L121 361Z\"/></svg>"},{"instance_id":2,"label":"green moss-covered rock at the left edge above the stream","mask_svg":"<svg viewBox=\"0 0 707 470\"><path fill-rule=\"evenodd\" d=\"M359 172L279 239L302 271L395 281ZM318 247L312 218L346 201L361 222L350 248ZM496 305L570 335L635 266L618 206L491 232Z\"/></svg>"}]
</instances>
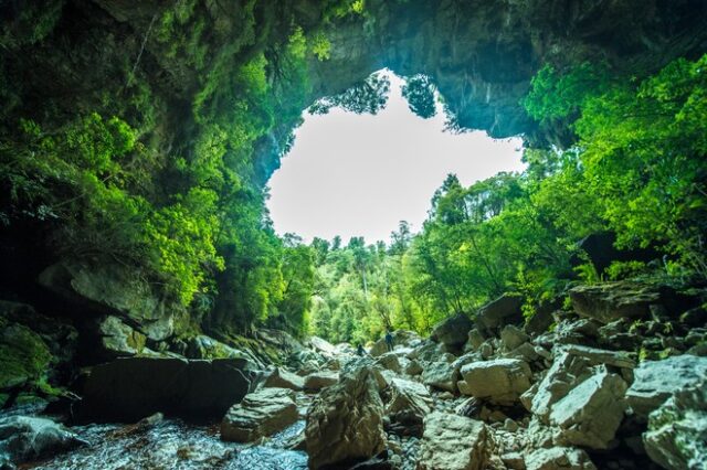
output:
<instances>
[{"instance_id":1,"label":"green moss-covered rock at the left edge above the stream","mask_svg":"<svg viewBox=\"0 0 707 470\"><path fill-rule=\"evenodd\" d=\"M0 333L0 389L33 384L46 374L52 354L32 330L11 324Z\"/></svg>"}]
</instances>

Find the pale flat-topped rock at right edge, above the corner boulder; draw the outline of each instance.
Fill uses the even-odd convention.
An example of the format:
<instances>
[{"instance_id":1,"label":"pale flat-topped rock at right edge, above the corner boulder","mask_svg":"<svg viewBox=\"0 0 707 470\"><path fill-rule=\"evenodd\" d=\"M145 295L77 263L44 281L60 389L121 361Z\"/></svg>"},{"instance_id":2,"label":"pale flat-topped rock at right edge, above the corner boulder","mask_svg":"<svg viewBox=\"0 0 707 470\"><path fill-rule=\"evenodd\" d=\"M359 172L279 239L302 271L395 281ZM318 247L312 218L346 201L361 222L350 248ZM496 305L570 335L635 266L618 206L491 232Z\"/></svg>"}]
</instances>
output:
<instances>
[{"instance_id":1,"label":"pale flat-topped rock at right edge, above the corner boulder","mask_svg":"<svg viewBox=\"0 0 707 470\"><path fill-rule=\"evenodd\" d=\"M707 381L707 357L684 354L663 361L643 361L634 375L626 400L633 413L646 419L676 392Z\"/></svg>"}]
</instances>

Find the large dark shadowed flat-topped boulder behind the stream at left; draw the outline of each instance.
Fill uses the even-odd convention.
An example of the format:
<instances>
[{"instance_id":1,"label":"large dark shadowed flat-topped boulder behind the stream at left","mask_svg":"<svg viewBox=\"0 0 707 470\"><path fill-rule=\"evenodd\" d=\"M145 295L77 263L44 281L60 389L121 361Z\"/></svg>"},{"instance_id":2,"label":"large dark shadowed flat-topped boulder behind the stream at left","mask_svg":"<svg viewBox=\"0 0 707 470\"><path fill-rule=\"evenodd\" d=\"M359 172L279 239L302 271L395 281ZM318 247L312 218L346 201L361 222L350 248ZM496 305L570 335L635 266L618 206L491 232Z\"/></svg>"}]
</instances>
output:
<instances>
[{"instance_id":1,"label":"large dark shadowed flat-topped boulder behind the stream at left","mask_svg":"<svg viewBox=\"0 0 707 470\"><path fill-rule=\"evenodd\" d=\"M93 367L78 415L124 423L157 412L223 416L251 392L256 376L243 360L118 359Z\"/></svg>"}]
</instances>

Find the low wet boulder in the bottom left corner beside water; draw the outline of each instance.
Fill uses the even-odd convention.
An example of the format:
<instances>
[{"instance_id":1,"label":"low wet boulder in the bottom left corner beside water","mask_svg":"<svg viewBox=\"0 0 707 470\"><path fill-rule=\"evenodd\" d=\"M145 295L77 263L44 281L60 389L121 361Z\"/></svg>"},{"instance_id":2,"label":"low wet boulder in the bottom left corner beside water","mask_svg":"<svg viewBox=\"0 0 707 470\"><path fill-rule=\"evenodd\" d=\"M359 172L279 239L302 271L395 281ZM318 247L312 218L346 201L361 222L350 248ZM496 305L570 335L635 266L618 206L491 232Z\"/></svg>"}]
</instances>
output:
<instances>
[{"instance_id":1,"label":"low wet boulder in the bottom left corner beside water","mask_svg":"<svg viewBox=\"0 0 707 470\"><path fill-rule=\"evenodd\" d=\"M11 416L0 419L0 464L44 459L87 444L51 419Z\"/></svg>"}]
</instances>

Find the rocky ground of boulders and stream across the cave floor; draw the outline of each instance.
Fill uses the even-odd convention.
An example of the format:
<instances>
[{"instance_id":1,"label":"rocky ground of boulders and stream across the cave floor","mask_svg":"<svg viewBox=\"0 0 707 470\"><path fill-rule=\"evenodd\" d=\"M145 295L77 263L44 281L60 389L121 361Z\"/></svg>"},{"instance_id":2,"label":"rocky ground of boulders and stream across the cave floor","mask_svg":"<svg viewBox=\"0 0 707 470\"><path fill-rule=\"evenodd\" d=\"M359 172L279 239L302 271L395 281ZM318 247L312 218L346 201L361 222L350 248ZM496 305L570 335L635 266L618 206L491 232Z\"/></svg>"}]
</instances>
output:
<instances>
[{"instance_id":1,"label":"rocky ground of boulders and stream across the cave floor","mask_svg":"<svg viewBox=\"0 0 707 470\"><path fill-rule=\"evenodd\" d=\"M362 357L286 339L277 367L200 337L232 354L93 367L54 406L72 428L6 412L0 468L705 469L703 296L582 286L530 321L505 296ZM137 424L82 424L102 420Z\"/></svg>"}]
</instances>

